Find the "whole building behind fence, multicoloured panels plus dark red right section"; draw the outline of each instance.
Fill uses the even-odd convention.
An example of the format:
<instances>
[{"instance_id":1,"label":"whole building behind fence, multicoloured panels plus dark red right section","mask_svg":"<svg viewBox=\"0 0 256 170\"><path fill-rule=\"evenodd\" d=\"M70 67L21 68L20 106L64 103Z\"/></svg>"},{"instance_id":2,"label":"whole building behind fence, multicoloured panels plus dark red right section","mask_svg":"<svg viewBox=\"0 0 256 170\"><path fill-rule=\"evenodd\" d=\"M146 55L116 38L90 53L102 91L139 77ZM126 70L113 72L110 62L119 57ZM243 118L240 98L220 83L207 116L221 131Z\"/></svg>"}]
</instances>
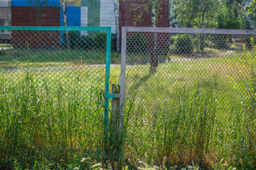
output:
<instances>
[{"instance_id":1,"label":"whole building behind fence, multicoloured panels plus dark red right section","mask_svg":"<svg viewBox=\"0 0 256 170\"><path fill-rule=\"evenodd\" d=\"M7 0L6 0L7 1ZM66 0L68 26L111 26L116 32L114 1ZM149 0L119 1L119 27L150 26L149 11L141 11ZM11 1L12 26L64 26L61 0L41 0L37 4L28 0ZM140 10L140 11L139 11ZM137 21L140 13L141 20ZM169 3L163 0L159 11L160 27L168 27Z\"/></svg>"}]
</instances>

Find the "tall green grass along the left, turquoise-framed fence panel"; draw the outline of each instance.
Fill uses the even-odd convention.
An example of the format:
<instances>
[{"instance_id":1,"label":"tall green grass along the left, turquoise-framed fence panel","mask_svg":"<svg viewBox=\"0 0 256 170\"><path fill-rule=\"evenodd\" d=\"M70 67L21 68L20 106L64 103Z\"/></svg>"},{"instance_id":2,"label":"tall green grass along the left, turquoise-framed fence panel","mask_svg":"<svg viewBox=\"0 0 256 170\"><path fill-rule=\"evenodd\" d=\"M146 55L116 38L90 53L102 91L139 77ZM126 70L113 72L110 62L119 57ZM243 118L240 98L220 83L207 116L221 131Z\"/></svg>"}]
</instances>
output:
<instances>
[{"instance_id":1,"label":"tall green grass along the left, turquoise-framed fence panel","mask_svg":"<svg viewBox=\"0 0 256 170\"><path fill-rule=\"evenodd\" d=\"M58 169L72 162L82 167L82 157L100 162L104 113L100 84L85 93L79 77L70 86L38 84L30 73L18 82L7 81L1 75L0 169Z\"/></svg>"}]
</instances>

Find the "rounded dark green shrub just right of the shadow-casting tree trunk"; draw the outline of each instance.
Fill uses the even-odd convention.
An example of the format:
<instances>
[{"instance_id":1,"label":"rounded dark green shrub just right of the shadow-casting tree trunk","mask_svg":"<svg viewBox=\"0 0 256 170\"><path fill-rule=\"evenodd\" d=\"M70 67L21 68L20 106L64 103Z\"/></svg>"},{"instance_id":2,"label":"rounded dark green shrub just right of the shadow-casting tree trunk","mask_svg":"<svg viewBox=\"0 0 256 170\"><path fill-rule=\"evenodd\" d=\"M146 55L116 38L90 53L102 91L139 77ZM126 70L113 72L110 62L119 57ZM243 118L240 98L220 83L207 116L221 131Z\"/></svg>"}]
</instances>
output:
<instances>
[{"instance_id":1,"label":"rounded dark green shrub just right of the shadow-casting tree trunk","mask_svg":"<svg viewBox=\"0 0 256 170\"><path fill-rule=\"evenodd\" d=\"M193 52L194 45L189 35L179 35L175 43L177 54L189 54Z\"/></svg>"}]
</instances>

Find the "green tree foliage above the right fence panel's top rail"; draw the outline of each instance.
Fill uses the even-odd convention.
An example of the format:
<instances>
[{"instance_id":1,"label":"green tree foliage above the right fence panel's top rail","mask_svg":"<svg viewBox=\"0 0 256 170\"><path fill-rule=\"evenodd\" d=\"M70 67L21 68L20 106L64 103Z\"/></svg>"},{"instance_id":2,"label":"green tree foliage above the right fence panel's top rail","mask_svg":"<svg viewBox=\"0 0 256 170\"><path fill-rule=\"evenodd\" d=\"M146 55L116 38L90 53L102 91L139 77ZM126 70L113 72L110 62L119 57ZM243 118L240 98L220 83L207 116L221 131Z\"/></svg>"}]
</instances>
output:
<instances>
[{"instance_id":1,"label":"green tree foliage above the right fence panel's top rail","mask_svg":"<svg viewBox=\"0 0 256 170\"><path fill-rule=\"evenodd\" d=\"M174 0L178 27L241 29L244 0Z\"/></svg>"}]
</instances>

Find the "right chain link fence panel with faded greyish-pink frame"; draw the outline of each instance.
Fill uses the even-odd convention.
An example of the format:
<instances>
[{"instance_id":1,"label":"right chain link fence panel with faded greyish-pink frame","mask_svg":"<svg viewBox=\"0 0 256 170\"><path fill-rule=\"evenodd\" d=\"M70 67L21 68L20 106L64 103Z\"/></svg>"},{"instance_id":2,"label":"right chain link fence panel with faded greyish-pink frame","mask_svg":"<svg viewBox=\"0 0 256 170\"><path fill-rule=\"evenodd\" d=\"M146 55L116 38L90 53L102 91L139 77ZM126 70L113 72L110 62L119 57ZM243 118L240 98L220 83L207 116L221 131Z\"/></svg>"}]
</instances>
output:
<instances>
[{"instance_id":1,"label":"right chain link fence panel with faded greyish-pink frame","mask_svg":"<svg viewBox=\"0 0 256 170\"><path fill-rule=\"evenodd\" d=\"M125 153L152 164L254 167L255 35L122 28Z\"/></svg>"}]
</instances>

